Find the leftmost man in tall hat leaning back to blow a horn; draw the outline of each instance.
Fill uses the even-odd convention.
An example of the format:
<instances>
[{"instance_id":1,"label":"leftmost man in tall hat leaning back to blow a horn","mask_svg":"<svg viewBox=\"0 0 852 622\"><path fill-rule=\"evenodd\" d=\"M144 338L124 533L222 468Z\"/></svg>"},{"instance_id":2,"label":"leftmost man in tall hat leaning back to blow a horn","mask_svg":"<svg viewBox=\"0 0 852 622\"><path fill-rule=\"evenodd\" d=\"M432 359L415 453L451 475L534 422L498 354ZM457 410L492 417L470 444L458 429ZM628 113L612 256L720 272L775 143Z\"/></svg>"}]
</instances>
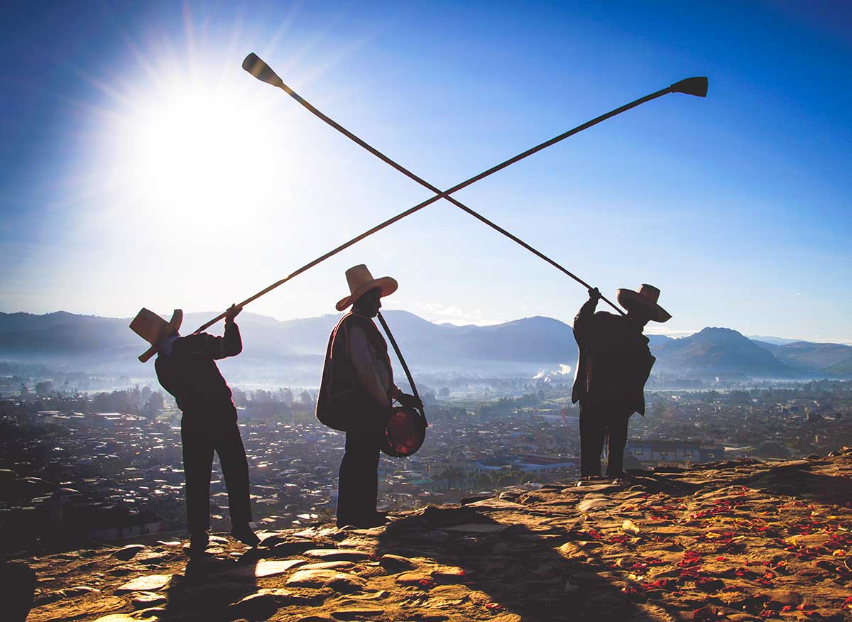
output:
<instances>
[{"instance_id":1,"label":"leftmost man in tall hat leaning back to blow a horn","mask_svg":"<svg viewBox=\"0 0 852 622\"><path fill-rule=\"evenodd\" d=\"M203 552L209 542L210 473L213 453L219 455L227 488L231 535L255 546L260 542L252 531L249 499L249 464L237 427L237 409L231 389L216 366L216 360L236 356L243 350L239 327L233 321L243 309L231 305L225 315L224 337L205 332L181 337L183 313L175 310L170 322L143 308L130 328L152 344L141 360L154 352L154 368L163 388L174 395L181 409L183 471L187 480L187 527L190 552Z\"/></svg>"}]
</instances>

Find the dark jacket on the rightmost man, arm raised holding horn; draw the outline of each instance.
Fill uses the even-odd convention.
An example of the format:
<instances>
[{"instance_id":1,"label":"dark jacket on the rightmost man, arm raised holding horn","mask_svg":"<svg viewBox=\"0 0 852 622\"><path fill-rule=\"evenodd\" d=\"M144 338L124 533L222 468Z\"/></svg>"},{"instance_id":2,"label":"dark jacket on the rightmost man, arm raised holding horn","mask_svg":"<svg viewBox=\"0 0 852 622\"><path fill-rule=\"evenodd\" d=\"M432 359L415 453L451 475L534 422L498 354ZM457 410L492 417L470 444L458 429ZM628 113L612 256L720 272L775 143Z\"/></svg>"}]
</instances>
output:
<instances>
[{"instance_id":1,"label":"dark jacket on the rightmost man, arm raised holding horn","mask_svg":"<svg viewBox=\"0 0 852 622\"><path fill-rule=\"evenodd\" d=\"M594 403L607 411L645 414L645 382L656 359L642 325L621 315L595 313L589 300L574 318L579 357L572 402Z\"/></svg>"}]
</instances>

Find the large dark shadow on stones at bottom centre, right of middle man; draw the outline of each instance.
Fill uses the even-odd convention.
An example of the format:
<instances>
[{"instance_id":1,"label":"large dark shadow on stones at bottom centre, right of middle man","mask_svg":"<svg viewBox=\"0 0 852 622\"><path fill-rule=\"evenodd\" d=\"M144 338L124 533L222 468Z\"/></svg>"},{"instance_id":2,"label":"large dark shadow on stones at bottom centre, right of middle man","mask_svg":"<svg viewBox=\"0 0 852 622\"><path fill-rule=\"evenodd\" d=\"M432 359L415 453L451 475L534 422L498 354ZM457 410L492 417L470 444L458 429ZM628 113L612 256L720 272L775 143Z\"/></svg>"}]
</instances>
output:
<instances>
[{"instance_id":1,"label":"large dark shadow on stones at bottom centre, right of middle man","mask_svg":"<svg viewBox=\"0 0 852 622\"><path fill-rule=\"evenodd\" d=\"M466 585L490 599L491 603L469 604L483 607L483 614L486 609L502 609L538 622L628 619L636 613L607 579L602 563L560 555L559 546L576 534L566 527L533 531L516 514L506 518L507 522L495 521L469 507L429 507L389 524L379 538L378 552L426 557L451 567L438 567L422 589Z\"/></svg>"}]
</instances>

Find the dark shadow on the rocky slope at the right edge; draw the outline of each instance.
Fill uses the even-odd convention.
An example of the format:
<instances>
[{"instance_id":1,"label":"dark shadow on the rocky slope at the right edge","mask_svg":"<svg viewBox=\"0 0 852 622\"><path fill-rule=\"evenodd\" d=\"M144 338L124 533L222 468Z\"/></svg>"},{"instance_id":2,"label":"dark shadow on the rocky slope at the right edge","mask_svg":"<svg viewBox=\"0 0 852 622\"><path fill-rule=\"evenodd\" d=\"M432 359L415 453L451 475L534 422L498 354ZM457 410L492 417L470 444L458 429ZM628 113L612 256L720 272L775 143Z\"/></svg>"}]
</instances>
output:
<instances>
[{"instance_id":1,"label":"dark shadow on the rocky slope at the right edge","mask_svg":"<svg viewBox=\"0 0 852 622\"><path fill-rule=\"evenodd\" d=\"M774 469L747 475L732 483L763 488L767 492L791 497L809 498L820 504L845 505L852 499L852 477L849 471L841 475L814 473L820 463L795 462L780 464Z\"/></svg>"}]
</instances>

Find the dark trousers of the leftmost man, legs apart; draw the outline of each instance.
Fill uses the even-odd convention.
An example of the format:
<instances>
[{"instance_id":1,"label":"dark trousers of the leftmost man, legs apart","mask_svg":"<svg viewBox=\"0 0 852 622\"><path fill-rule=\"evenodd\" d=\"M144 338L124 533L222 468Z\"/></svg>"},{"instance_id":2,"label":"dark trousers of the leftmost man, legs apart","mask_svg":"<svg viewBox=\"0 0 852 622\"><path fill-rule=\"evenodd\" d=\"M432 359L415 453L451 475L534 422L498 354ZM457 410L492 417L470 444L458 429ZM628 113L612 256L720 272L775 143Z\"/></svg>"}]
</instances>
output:
<instances>
[{"instance_id":1,"label":"dark trousers of the leftmost man, legs apart","mask_svg":"<svg viewBox=\"0 0 852 622\"><path fill-rule=\"evenodd\" d=\"M237 422L198 423L181 419L183 473L187 479L187 527L189 533L210 529L210 471L213 452L219 455L227 488L231 525L251 522L249 463Z\"/></svg>"}]
</instances>

